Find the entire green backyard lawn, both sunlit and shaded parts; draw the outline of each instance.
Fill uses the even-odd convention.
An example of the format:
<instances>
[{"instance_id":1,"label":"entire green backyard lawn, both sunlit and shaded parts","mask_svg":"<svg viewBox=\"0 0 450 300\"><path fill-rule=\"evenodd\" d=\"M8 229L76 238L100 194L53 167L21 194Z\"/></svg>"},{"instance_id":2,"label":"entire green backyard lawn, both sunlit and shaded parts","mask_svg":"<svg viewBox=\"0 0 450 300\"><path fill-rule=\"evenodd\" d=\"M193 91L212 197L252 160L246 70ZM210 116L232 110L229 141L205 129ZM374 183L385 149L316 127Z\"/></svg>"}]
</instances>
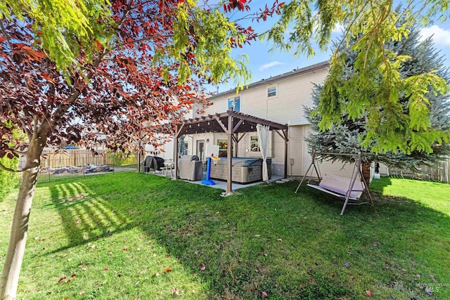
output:
<instances>
[{"instance_id":1,"label":"entire green backyard lawn, both sunlit and shaded parts","mask_svg":"<svg viewBox=\"0 0 450 300\"><path fill-rule=\"evenodd\" d=\"M137 173L40 184L18 298L450 299L450 185L382 178L378 214L344 216L339 200L296 187L221 197ZM14 197L0 202L2 233Z\"/></svg>"}]
</instances>

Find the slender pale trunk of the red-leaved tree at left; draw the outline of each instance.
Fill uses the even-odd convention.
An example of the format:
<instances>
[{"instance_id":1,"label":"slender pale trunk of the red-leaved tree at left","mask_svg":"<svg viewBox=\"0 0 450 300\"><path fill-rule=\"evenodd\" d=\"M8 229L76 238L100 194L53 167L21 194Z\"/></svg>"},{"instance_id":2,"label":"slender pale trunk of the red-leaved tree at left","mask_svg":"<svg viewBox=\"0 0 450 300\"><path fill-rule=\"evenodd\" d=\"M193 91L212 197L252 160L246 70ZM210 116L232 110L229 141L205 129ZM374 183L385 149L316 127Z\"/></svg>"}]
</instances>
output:
<instances>
[{"instance_id":1,"label":"slender pale trunk of the red-leaved tree at left","mask_svg":"<svg viewBox=\"0 0 450 300\"><path fill-rule=\"evenodd\" d=\"M20 268L25 254L25 244L27 242L28 221L30 220L30 210L36 188L37 174L41 152L44 149L43 139L34 134L30 147L27 150L27 162L23 180L15 204L13 224L11 226L11 236L8 244L8 252L0 278L0 299L13 300L16 298Z\"/></svg>"}]
</instances>

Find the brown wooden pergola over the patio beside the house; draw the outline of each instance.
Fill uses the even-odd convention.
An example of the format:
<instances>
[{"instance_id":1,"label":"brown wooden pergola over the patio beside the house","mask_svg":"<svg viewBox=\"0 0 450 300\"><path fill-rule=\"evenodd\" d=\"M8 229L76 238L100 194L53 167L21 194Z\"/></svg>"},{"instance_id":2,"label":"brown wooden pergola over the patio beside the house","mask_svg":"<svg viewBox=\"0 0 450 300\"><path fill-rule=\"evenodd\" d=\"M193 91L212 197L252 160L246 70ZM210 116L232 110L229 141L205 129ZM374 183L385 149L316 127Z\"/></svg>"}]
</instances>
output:
<instances>
[{"instance_id":1,"label":"brown wooden pergola over the patio beside the house","mask_svg":"<svg viewBox=\"0 0 450 300\"><path fill-rule=\"evenodd\" d=\"M288 177L288 125L271 122L259 117L245 115L242 112L235 112L227 110L221 114L207 115L197 117L194 119L186 119L181 124L176 125L176 132L174 136L174 169L178 169L178 138L184 134L195 133L213 133L224 132L228 137L229 147L226 149L227 157L227 179L226 179L226 193L231 193L231 166L232 164L232 143L236 142L236 150L238 143L245 136L245 133L256 131L256 125L262 124L269 126L271 131L278 133L284 140L284 178ZM238 133L244 133L241 136ZM237 151L236 151L237 153ZM174 179L178 179L178 174L175 171Z\"/></svg>"}]
</instances>

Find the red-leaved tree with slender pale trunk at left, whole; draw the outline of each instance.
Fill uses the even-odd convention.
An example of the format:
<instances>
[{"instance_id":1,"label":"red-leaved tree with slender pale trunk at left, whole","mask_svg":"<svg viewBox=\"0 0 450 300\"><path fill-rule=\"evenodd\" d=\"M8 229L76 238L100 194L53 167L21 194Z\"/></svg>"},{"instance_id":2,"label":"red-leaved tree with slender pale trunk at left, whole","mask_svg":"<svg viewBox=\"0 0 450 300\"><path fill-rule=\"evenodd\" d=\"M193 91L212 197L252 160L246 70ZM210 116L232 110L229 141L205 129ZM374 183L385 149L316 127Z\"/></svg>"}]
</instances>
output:
<instances>
[{"instance_id":1,"label":"red-leaved tree with slender pale trunk at left, whole","mask_svg":"<svg viewBox=\"0 0 450 300\"><path fill-rule=\"evenodd\" d=\"M226 9L243 10L246 2L231 1ZM171 131L194 102L205 101L204 81L245 76L243 62L230 58L229 48L255 34L231 23L218 8L189 7L181 0L117 0L111 1L110 13L91 20L96 29L91 41L66 36L75 45L70 74L49 60L32 18L0 20L0 157L26 157L22 170L0 165L23 171L1 299L15 298L44 147L89 147L98 131L108 134L112 150L133 148L138 141L158 147L163 141L155 133ZM97 26L105 18L108 30ZM27 141L16 138L18 129Z\"/></svg>"}]
</instances>

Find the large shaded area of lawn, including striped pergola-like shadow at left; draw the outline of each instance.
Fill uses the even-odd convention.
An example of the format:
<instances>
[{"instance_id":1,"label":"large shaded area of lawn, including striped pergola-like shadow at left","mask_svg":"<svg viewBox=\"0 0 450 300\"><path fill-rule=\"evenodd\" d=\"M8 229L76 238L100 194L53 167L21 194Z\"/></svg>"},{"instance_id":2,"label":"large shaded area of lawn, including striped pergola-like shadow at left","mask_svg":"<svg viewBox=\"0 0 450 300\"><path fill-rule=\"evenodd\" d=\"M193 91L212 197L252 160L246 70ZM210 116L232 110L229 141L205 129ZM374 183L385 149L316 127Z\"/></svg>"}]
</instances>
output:
<instances>
[{"instance_id":1,"label":"large shaded area of lawn, including striped pergola-like shadow at left","mask_svg":"<svg viewBox=\"0 0 450 300\"><path fill-rule=\"evenodd\" d=\"M412 200L375 194L379 214L365 205L340 216L342 202L306 187L295 194L297 183L220 197L182 181L130 178L51 185L65 248L139 227L209 282L210 299L360 298L366 289L426 298L421 284L432 283L430 274L446 278L449 216Z\"/></svg>"}]
</instances>

